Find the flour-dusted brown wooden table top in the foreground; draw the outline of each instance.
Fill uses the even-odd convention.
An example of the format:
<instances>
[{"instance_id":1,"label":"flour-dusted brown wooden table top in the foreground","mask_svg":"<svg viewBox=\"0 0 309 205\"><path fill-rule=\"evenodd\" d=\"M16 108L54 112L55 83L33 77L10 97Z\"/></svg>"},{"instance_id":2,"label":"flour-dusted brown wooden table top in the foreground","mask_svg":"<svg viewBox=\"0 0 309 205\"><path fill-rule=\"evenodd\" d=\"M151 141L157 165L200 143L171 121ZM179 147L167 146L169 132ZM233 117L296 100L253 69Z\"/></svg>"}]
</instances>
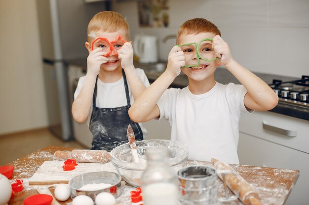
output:
<instances>
[{"instance_id":1,"label":"flour-dusted brown wooden table top in the foreground","mask_svg":"<svg viewBox=\"0 0 309 205\"><path fill-rule=\"evenodd\" d=\"M27 156L17 159L8 165L15 167L13 173L13 179L30 178L38 170L39 166L46 160L53 160L53 154L56 150L68 150L71 151L74 148L62 147L62 146L47 146L39 149L36 152L28 154ZM184 166L188 165L209 165L210 162L201 162L188 160ZM298 170L286 170L267 167L254 167L245 165L231 165L232 168L238 172L251 186L259 193L262 203L264 205L283 205L293 186L295 185L298 177ZM217 180L218 193L224 192L223 183L219 179ZM53 189L50 189L53 193ZM22 192L17 193L13 199L11 199L8 205L23 205L23 201L28 196L38 194L37 190L31 186L25 187ZM61 205L71 202L71 199L66 202L59 202ZM234 201L225 203L225 205L242 205L240 201Z\"/></svg>"}]
</instances>

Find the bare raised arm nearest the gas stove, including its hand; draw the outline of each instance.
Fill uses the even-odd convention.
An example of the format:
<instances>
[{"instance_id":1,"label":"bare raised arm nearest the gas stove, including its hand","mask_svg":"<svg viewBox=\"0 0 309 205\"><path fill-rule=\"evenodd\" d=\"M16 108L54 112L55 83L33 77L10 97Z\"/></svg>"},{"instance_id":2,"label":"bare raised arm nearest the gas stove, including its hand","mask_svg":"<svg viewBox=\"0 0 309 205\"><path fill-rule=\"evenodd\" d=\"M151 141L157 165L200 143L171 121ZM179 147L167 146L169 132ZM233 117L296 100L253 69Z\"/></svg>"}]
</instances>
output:
<instances>
[{"instance_id":1,"label":"bare raised arm nearest the gas stove, including its hand","mask_svg":"<svg viewBox=\"0 0 309 205\"><path fill-rule=\"evenodd\" d=\"M278 96L275 92L263 80L232 59L228 44L219 35L213 38L212 46L222 64L247 89L248 93L244 98L247 109L267 111L277 105Z\"/></svg>"}]
</instances>

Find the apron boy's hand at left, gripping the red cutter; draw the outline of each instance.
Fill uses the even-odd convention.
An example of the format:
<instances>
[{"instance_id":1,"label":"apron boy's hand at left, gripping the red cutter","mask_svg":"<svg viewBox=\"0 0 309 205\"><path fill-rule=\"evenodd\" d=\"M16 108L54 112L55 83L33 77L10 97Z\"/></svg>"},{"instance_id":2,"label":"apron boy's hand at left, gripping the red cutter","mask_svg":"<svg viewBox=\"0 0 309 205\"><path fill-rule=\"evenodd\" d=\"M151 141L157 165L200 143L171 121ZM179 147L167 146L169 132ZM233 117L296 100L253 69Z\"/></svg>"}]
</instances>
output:
<instances>
[{"instance_id":1,"label":"apron boy's hand at left, gripping the red cutter","mask_svg":"<svg viewBox=\"0 0 309 205\"><path fill-rule=\"evenodd\" d=\"M101 64L106 63L108 58L104 57L106 52L102 48L94 49L87 58L87 73L97 76L100 72Z\"/></svg>"}]
</instances>

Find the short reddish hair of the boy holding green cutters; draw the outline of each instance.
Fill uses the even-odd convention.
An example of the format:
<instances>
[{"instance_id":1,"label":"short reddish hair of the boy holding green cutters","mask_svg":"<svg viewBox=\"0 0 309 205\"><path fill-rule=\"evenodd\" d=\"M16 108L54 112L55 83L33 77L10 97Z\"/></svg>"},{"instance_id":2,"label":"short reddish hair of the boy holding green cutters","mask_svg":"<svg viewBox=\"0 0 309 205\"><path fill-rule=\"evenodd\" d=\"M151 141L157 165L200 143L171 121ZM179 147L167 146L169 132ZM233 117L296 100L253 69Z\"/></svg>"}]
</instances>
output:
<instances>
[{"instance_id":1,"label":"short reddish hair of the boy holding green cutters","mask_svg":"<svg viewBox=\"0 0 309 205\"><path fill-rule=\"evenodd\" d=\"M181 27L178 29L177 33L177 42L179 39L179 36L181 35L187 35L187 34L197 34L197 33L202 33L202 32L211 32L216 35L221 36L221 32L210 21L203 19L203 18L195 18L195 19L190 19L183 23Z\"/></svg>"}]
</instances>

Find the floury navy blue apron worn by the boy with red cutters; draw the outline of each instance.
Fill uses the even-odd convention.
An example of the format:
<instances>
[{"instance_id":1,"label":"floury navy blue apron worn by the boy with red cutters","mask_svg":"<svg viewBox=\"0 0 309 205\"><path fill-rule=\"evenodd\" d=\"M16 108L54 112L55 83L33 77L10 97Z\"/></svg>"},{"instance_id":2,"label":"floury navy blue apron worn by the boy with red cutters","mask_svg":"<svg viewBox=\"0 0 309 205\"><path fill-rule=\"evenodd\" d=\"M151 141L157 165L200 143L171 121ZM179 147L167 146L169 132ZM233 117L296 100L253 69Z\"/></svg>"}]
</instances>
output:
<instances>
[{"instance_id":1,"label":"floury navy blue apron worn by the boy with red cutters","mask_svg":"<svg viewBox=\"0 0 309 205\"><path fill-rule=\"evenodd\" d=\"M128 138L126 136L126 131L129 124L134 131L136 141L143 140L143 132L140 125L133 122L128 114L131 104L129 88L123 69L122 74L127 105L117 108L98 108L95 106L98 77L96 79L89 124L92 133L91 149L111 151L116 146L127 143Z\"/></svg>"}]
</instances>

